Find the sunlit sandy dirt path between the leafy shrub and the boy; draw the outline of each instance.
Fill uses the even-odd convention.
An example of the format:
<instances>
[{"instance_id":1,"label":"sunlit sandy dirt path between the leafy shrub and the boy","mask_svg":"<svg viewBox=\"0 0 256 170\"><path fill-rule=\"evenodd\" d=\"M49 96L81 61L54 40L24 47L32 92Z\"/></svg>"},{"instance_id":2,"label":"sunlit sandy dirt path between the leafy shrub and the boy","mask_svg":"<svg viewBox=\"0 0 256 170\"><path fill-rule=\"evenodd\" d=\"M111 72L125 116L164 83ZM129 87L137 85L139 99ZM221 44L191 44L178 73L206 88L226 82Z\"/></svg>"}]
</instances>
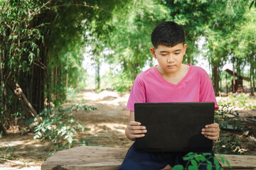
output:
<instances>
[{"instance_id":1,"label":"sunlit sandy dirt path between the leafy shrub and the boy","mask_svg":"<svg viewBox=\"0 0 256 170\"><path fill-rule=\"evenodd\" d=\"M90 146L131 146L132 142L124 135L129 118L129 111L125 108L128 97L129 94L118 94L114 91L102 91L100 94L87 91L77 96L82 103L97 108L96 111L73 113L74 118L90 128L84 134L78 135L79 140L87 141ZM65 107L69 105L70 103L66 103Z\"/></svg>"}]
</instances>

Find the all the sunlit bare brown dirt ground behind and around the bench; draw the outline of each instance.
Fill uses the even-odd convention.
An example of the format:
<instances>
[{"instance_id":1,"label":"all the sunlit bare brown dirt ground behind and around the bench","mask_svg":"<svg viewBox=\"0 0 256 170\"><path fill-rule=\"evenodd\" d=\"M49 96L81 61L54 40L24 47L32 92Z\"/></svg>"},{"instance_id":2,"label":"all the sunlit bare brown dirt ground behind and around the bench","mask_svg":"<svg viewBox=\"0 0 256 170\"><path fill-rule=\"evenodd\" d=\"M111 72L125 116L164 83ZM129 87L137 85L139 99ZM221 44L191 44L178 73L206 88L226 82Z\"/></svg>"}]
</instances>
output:
<instances>
[{"instance_id":1,"label":"all the sunlit bare brown dirt ground behind and around the bench","mask_svg":"<svg viewBox=\"0 0 256 170\"><path fill-rule=\"evenodd\" d=\"M129 111L125 108L128 98L129 94L119 94L115 91L102 91L96 94L87 90L77 94L70 103L65 103L65 108L79 102L97 108L95 111L73 112L74 118L90 128L75 135L75 147L81 146L81 141L86 141L89 146L130 147L132 142L124 135L129 117ZM240 112L256 115L255 110ZM9 134L0 138L0 148L14 148L14 157L18 158L12 162L0 159L0 169L41 169L41 164L49 157L51 144L47 141L33 140L33 135L33 132L29 132L26 135ZM253 142L255 138L245 136L241 132L235 132L234 135L242 142L244 154L256 155L256 142Z\"/></svg>"}]
</instances>

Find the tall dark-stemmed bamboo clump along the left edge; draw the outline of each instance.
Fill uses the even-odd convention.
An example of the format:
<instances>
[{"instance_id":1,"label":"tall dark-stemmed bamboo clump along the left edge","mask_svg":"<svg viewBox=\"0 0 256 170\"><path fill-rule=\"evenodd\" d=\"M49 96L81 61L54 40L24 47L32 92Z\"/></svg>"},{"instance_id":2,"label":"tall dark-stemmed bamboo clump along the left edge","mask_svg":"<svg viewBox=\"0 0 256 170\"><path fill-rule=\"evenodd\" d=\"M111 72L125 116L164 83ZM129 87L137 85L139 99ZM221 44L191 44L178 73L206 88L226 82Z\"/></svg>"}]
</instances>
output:
<instances>
[{"instance_id":1,"label":"tall dark-stemmed bamboo clump along the left edge","mask_svg":"<svg viewBox=\"0 0 256 170\"><path fill-rule=\"evenodd\" d=\"M26 118L40 113L45 106L46 96L50 103L52 93L56 92L56 103L63 102L68 81L79 77L82 60L80 49L87 42L86 31L90 30L92 21L104 24L111 18L111 10L119 1L112 1L113 6L105 8L99 6L109 1L0 2L0 75L3 92L0 124L3 129L11 125L17 112L19 116L26 115ZM123 3L125 1L120 4ZM100 34L102 25L97 25L95 31ZM73 65L67 64L67 61L73 61ZM75 67L77 71L70 72ZM19 90L17 94L16 89L22 91ZM15 95L11 95L11 91Z\"/></svg>"}]
</instances>

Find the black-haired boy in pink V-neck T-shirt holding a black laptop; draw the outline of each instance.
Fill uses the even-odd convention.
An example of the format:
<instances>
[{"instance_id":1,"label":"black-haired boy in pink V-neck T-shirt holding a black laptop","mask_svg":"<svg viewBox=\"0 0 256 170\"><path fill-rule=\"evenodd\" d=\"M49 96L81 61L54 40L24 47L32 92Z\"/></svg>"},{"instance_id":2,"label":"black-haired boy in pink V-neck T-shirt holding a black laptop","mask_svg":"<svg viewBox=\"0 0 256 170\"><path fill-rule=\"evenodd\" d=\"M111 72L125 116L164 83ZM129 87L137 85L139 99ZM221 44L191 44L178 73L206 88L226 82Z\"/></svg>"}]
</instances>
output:
<instances>
[{"instance_id":1,"label":"black-haired boy in pink V-neck T-shirt holding a black laptop","mask_svg":"<svg viewBox=\"0 0 256 170\"><path fill-rule=\"evenodd\" d=\"M134 121L134 103L214 101L218 104L213 85L205 70L190 64L182 64L188 45L185 44L183 28L174 22L160 23L151 33L151 54L158 65L137 75L132 86L127 109L129 124L125 135L129 140L144 137L146 127ZM189 128L189 127L188 127ZM210 140L218 140L220 128L217 123L206 125L201 132ZM196 152L210 153L213 151ZM187 152L138 152L134 145L127 152L121 169L163 169L167 164L182 164ZM213 163L213 159L210 159ZM214 165L214 163L213 163ZM199 169L207 169L201 165Z\"/></svg>"}]
</instances>

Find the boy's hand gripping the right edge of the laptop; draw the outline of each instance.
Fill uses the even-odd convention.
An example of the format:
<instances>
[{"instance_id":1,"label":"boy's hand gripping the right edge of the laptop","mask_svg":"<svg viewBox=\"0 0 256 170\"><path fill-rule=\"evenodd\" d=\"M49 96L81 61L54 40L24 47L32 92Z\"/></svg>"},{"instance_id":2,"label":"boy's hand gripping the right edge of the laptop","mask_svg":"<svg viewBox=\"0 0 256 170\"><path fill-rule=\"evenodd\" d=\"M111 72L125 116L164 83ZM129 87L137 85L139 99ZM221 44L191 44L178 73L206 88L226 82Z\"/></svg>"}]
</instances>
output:
<instances>
[{"instance_id":1,"label":"boy's hand gripping the right edge of the laptop","mask_svg":"<svg viewBox=\"0 0 256 170\"><path fill-rule=\"evenodd\" d=\"M218 123L206 125L206 128L203 128L201 133L209 140L218 140L220 137L220 127Z\"/></svg>"}]
</instances>

